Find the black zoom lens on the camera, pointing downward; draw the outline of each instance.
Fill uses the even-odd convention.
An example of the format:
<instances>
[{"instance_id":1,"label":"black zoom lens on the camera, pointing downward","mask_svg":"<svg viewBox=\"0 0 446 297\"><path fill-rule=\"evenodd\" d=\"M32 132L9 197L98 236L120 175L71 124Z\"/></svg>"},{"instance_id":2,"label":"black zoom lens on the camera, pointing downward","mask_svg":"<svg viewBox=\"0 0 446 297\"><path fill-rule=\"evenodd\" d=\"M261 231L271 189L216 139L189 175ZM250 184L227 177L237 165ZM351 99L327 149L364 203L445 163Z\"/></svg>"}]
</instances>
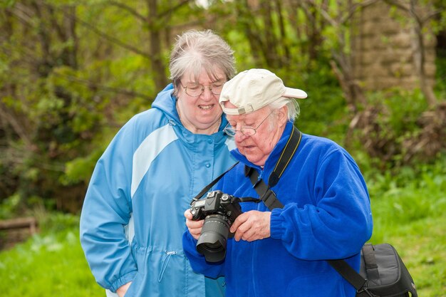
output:
<instances>
[{"instance_id":1,"label":"black zoom lens on the camera, pointing downward","mask_svg":"<svg viewBox=\"0 0 446 297\"><path fill-rule=\"evenodd\" d=\"M202 234L197 241L197 251L208 262L219 262L226 256L226 243L229 235L227 217L209 214L204 219Z\"/></svg>"}]
</instances>

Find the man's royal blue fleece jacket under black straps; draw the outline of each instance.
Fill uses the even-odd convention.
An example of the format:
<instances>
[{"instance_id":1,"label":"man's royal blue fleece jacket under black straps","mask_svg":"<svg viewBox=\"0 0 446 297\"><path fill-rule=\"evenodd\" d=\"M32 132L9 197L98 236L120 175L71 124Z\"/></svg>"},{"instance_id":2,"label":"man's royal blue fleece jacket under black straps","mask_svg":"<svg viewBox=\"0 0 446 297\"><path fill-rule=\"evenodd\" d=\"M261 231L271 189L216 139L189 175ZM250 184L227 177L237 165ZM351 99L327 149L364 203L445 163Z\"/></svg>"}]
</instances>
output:
<instances>
[{"instance_id":1,"label":"man's royal blue fleece jacket under black straps","mask_svg":"<svg viewBox=\"0 0 446 297\"><path fill-rule=\"evenodd\" d=\"M215 189L235 197L259 197L244 175L253 167L268 183L293 123L266 160L264 169L232 151L239 164ZM227 297L354 297L356 290L325 260L346 259L357 271L361 247L372 233L370 199L356 162L335 142L303 134L279 183L271 189L283 209L271 212L271 236L256 241L228 239L222 263L198 254L189 231L183 247L195 271L225 276ZM242 212L268 212L263 202L241 202Z\"/></svg>"}]
</instances>

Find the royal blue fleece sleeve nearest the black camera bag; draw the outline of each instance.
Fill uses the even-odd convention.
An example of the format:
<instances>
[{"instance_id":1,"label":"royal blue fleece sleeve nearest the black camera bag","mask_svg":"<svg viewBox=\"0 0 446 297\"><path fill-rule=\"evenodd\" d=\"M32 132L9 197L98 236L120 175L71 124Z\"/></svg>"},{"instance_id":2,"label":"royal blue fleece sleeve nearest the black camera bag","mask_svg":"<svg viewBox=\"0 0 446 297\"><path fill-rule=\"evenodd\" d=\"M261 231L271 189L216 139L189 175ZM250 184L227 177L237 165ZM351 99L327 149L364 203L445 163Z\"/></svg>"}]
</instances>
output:
<instances>
[{"instance_id":1,"label":"royal blue fleece sleeve nearest the black camera bag","mask_svg":"<svg viewBox=\"0 0 446 297\"><path fill-rule=\"evenodd\" d=\"M284 209L274 209L271 237L280 239L299 259L341 259L357 254L370 239L373 226L370 199L358 166L347 152L335 150L311 170L316 171L314 180L297 181L311 203L288 203Z\"/></svg>"}]
</instances>

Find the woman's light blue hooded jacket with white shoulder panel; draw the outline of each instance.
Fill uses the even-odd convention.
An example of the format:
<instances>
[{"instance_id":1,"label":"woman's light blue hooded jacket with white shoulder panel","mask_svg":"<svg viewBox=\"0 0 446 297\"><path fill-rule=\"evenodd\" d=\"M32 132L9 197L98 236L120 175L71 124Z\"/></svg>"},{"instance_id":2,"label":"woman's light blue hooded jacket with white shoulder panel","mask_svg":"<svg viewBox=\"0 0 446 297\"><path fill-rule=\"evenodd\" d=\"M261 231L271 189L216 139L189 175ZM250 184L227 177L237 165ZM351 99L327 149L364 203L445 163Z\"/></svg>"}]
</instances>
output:
<instances>
[{"instance_id":1,"label":"woman's light blue hooded jacket with white shoulder panel","mask_svg":"<svg viewBox=\"0 0 446 297\"><path fill-rule=\"evenodd\" d=\"M182 249L185 209L234 164L223 132L197 135L180 122L172 84L135 115L98 160L81 212L81 244L96 281L110 296L224 296L222 278L192 271Z\"/></svg>"}]
</instances>

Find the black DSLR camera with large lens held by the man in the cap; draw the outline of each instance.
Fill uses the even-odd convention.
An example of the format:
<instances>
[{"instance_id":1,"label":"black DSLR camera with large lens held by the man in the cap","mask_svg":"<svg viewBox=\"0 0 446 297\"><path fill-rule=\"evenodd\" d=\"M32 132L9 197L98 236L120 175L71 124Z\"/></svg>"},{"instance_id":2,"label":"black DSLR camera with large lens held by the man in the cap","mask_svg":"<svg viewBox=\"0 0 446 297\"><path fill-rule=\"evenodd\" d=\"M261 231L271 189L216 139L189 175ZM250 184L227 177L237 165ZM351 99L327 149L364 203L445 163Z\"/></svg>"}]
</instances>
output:
<instances>
[{"instance_id":1,"label":"black DSLR camera with large lens held by the man in the cap","mask_svg":"<svg viewBox=\"0 0 446 297\"><path fill-rule=\"evenodd\" d=\"M192 220L204 219L202 234L197 241L197 251L208 262L219 262L226 256L228 237L234 237L229 228L242 214L240 198L222 191L207 193L206 199L195 200L190 204Z\"/></svg>"}]
</instances>

